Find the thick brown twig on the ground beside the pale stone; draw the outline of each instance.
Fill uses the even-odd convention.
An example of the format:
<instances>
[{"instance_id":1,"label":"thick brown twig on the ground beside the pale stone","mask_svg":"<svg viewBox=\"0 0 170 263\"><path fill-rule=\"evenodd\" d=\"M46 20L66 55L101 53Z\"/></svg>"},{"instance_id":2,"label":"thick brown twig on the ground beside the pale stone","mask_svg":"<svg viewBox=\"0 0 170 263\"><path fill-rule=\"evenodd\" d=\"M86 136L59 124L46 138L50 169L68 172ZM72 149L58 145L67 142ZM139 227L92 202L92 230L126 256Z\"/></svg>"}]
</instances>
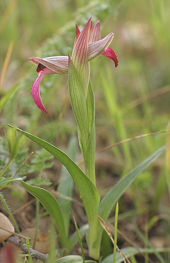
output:
<instances>
[{"instance_id":1,"label":"thick brown twig on the ground beside the pale stone","mask_svg":"<svg viewBox=\"0 0 170 263\"><path fill-rule=\"evenodd\" d=\"M23 244L24 242L22 240L16 239L13 236L10 236L6 241L12 243L13 245L16 245L20 250L22 250L25 254L28 254L28 248ZM39 259L44 263L47 263L49 260L49 254L42 254L40 252L35 251L33 248L30 248L30 253L34 253L32 255L33 258Z\"/></svg>"}]
</instances>

